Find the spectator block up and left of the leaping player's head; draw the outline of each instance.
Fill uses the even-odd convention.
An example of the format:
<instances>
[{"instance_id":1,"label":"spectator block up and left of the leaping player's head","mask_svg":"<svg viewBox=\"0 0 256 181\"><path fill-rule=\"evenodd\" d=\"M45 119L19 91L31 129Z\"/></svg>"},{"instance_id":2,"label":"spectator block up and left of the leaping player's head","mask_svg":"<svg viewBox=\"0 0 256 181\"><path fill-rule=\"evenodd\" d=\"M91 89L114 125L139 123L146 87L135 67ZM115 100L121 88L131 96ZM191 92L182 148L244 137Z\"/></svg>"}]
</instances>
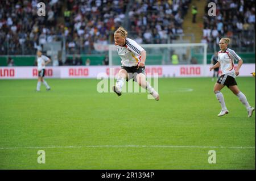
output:
<instances>
[{"instance_id":1,"label":"spectator block up and left of the leaping player's head","mask_svg":"<svg viewBox=\"0 0 256 181\"><path fill-rule=\"evenodd\" d=\"M108 45L125 18L129 0L68 0L64 11L67 53L92 54L94 43Z\"/></svg>"}]
</instances>

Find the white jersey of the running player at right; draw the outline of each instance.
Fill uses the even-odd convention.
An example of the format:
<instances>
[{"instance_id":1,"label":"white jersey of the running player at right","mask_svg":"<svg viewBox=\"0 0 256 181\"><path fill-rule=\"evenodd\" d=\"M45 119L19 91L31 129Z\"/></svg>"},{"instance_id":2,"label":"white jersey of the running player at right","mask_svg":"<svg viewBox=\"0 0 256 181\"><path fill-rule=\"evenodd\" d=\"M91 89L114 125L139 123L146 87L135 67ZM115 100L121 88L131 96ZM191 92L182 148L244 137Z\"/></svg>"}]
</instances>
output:
<instances>
[{"instance_id":1,"label":"white jersey of the running player at right","mask_svg":"<svg viewBox=\"0 0 256 181\"><path fill-rule=\"evenodd\" d=\"M227 48L224 52L221 50L218 52L218 62L220 62L222 74L228 74L236 78L234 60L241 60L234 50Z\"/></svg>"}]
</instances>

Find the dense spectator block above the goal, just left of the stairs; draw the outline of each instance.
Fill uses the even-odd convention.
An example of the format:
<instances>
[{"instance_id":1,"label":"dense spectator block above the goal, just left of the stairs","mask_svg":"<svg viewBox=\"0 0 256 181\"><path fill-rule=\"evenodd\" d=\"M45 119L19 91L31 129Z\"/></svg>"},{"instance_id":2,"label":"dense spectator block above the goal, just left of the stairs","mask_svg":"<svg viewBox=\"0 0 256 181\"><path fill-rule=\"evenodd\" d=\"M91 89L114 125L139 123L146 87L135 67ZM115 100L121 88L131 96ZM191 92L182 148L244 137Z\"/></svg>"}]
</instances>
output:
<instances>
[{"instance_id":1,"label":"dense spectator block above the goal, just left of the stairs","mask_svg":"<svg viewBox=\"0 0 256 181\"><path fill-rule=\"evenodd\" d=\"M135 1L128 14L131 35L138 43L171 43L183 33L189 3L191 0Z\"/></svg>"}]
</instances>

